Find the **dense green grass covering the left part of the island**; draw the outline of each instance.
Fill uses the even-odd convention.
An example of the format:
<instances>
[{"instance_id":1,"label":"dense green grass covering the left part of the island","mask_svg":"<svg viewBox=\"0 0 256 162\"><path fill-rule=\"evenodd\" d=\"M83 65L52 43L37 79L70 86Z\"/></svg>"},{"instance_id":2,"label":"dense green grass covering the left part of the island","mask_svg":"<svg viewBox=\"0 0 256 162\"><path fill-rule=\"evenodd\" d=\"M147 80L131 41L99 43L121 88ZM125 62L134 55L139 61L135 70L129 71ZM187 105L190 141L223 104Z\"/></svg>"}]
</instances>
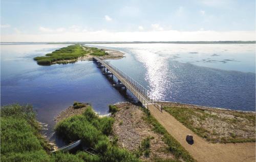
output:
<instances>
[{"instance_id":1,"label":"dense green grass covering the left part of the island","mask_svg":"<svg viewBox=\"0 0 256 162\"><path fill-rule=\"evenodd\" d=\"M54 62L67 64L68 62L65 60L76 60L87 53L80 45L70 45L48 53L46 56L35 57L34 60L37 61L38 65L51 65Z\"/></svg>"}]
</instances>

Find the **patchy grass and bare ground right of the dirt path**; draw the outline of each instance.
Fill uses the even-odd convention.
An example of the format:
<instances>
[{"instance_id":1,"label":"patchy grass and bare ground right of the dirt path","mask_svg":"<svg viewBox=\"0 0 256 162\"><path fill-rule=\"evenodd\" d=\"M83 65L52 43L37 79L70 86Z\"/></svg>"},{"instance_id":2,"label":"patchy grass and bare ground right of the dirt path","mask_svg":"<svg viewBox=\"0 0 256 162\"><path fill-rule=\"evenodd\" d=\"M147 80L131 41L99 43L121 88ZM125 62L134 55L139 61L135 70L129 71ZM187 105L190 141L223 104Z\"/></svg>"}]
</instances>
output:
<instances>
[{"instance_id":1,"label":"patchy grass and bare ground right of the dirt path","mask_svg":"<svg viewBox=\"0 0 256 162\"><path fill-rule=\"evenodd\" d=\"M255 114L253 113L193 109L181 106L168 106L164 107L164 110L207 141L213 143L255 142ZM224 134L221 124L226 127Z\"/></svg>"}]
</instances>

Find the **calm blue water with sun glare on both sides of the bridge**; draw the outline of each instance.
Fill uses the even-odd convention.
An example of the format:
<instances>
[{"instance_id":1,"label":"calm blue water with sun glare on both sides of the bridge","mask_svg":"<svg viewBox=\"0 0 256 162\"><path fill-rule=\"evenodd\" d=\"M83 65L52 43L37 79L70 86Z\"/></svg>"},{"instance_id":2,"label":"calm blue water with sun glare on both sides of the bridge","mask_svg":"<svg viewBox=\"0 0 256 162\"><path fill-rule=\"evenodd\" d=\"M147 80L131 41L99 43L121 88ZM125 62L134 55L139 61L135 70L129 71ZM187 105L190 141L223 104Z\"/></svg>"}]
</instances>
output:
<instances>
[{"instance_id":1,"label":"calm blue water with sun glare on both sides of the bridge","mask_svg":"<svg viewBox=\"0 0 256 162\"><path fill-rule=\"evenodd\" d=\"M1 105L31 103L52 137L54 116L74 101L89 102L99 114L108 105L136 101L111 86L90 61L39 66L33 61L67 45L1 45ZM92 46L92 45L91 45ZM254 44L99 44L125 58L109 60L154 97L198 105L255 111ZM51 140L57 140L55 136Z\"/></svg>"}]
</instances>

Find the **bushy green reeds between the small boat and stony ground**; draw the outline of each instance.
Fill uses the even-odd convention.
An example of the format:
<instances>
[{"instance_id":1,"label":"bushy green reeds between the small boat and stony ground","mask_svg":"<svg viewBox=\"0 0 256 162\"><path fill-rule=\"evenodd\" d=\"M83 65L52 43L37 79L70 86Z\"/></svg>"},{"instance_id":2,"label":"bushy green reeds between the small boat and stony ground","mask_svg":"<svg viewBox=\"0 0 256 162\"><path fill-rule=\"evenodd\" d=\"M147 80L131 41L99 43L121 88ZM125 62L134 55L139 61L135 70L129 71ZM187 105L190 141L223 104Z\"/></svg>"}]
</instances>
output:
<instances>
[{"instance_id":1,"label":"bushy green reeds between the small boat and stony ground","mask_svg":"<svg viewBox=\"0 0 256 162\"><path fill-rule=\"evenodd\" d=\"M95 148L98 154L94 161L139 161L129 151L120 149L110 142L108 135L112 132L113 124L113 118L99 118L92 107L88 107L82 115L61 121L55 129L67 140L81 139L82 144Z\"/></svg>"}]
</instances>

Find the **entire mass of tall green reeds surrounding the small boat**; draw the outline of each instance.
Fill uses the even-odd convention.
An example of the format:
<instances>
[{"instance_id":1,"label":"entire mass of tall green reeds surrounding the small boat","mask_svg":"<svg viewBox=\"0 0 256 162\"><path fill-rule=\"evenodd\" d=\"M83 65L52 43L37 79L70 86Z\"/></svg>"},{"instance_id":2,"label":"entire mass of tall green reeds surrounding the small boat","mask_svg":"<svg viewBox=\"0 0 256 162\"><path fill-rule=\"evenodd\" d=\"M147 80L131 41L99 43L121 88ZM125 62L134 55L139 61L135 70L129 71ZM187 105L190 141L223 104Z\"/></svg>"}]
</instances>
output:
<instances>
[{"instance_id":1,"label":"entire mass of tall green reeds surrounding the small boat","mask_svg":"<svg viewBox=\"0 0 256 162\"><path fill-rule=\"evenodd\" d=\"M69 140L82 139L83 144L96 148L98 154L86 152L52 153L41 136L31 105L11 104L1 107L1 161L140 161L129 151L117 148L107 135L112 131L113 118L98 118L89 107L82 115L60 122L56 130ZM117 141L117 140L116 140Z\"/></svg>"}]
</instances>

